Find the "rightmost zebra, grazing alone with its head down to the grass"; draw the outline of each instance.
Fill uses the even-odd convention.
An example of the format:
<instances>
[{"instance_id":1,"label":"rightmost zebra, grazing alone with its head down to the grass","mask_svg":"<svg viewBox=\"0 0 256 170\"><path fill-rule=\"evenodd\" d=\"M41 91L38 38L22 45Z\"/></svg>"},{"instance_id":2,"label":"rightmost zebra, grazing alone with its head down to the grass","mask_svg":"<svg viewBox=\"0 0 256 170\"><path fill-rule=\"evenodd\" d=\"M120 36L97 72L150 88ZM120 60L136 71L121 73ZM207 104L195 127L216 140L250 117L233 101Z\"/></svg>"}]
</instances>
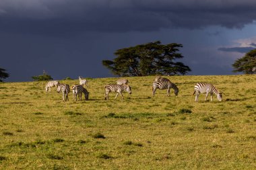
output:
<instances>
[{"instance_id":1,"label":"rightmost zebra, grazing alone with its head down to the grass","mask_svg":"<svg viewBox=\"0 0 256 170\"><path fill-rule=\"evenodd\" d=\"M218 91L218 89L216 87L214 87L214 85L212 85L212 84L197 83L195 85L195 90L194 90L193 95L195 94L195 101L196 102L198 102L198 96L199 96L200 93L206 93L204 101L206 101L207 96L209 95L209 93L211 94L211 101L212 101L213 93L217 95L218 101L222 101L222 93L220 93L220 91Z\"/></svg>"}]
</instances>

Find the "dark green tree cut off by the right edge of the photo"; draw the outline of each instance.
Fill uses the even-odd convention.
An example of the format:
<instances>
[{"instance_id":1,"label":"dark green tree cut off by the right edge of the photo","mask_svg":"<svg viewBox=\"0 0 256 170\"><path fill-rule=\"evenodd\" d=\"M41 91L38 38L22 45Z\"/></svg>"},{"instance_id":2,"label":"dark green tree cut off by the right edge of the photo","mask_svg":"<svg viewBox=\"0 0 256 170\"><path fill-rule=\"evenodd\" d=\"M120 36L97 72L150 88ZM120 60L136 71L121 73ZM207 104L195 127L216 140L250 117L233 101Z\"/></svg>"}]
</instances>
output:
<instances>
[{"instance_id":1,"label":"dark green tree cut off by the right edge of the photo","mask_svg":"<svg viewBox=\"0 0 256 170\"><path fill-rule=\"evenodd\" d=\"M238 58L232 66L234 67L233 72L256 73L256 49L247 52L242 58Z\"/></svg>"}]
</instances>

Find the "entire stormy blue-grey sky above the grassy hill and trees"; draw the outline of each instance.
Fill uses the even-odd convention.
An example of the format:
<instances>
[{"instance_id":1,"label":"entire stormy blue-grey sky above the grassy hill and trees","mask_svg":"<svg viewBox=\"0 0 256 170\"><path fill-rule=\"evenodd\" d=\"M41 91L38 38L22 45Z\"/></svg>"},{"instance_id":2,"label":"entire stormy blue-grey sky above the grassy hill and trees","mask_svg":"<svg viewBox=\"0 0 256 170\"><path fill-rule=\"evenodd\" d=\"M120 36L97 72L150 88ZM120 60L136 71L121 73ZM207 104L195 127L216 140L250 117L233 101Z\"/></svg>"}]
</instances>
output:
<instances>
[{"instance_id":1,"label":"entire stormy blue-grey sky above the grassy hill and trees","mask_svg":"<svg viewBox=\"0 0 256 170\"><path fill-rule=\"evenodd\" d=\"M6 81L113 77L117 49L183 44L189 75L230 75L256 48L253 0L0 0L0 67Z\"/></svg>"}]
</instances>

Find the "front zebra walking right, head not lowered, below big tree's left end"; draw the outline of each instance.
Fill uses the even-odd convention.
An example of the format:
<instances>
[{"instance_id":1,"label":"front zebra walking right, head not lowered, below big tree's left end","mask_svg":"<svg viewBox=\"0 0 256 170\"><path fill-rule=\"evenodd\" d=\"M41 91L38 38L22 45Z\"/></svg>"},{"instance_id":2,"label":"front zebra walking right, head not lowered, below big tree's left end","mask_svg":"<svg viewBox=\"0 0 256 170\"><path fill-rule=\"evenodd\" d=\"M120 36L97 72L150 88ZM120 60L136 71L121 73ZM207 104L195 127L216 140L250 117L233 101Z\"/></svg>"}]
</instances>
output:
<instances>
[{"instance_id":1,"label":"front zebra walking right, head not lowered, below big tree's left end","mask_svg":"<svg viewBox=\"0 0 256 170\"><path fill-rule=\"evenodd\" d=\"M131 86L129 85L106 85L105 86L105 99L108 99L108 93L110 93L110 91L115 91L117 92L117 95L115 97L115 99L117 99L117 96L120 94L122 99L123 99L123 94L122 91L127 91L129 94L131 94Z\"/></svg>"}]
</instances>

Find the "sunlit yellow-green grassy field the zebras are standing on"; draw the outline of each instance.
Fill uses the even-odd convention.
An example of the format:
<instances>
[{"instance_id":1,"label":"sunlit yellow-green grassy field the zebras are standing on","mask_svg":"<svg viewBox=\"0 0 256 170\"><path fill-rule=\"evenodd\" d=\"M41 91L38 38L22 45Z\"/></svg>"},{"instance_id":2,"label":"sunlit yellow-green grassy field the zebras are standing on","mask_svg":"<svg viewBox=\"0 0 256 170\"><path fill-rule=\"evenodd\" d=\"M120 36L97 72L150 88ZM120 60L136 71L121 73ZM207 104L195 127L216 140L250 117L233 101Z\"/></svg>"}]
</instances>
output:
<instances>
[{"instance_id":1,"label":"sunlit yellow-green grassy field the zebras are standing on","mask_svg":"<svg viewBox=\"0 0 256 170\"><path fill-rule=\"evenodd\" d=\"M132 94L105 101L117 79L102 78L76 102L45 82L0 83L0 169L256 169L256 75L168 78L177 97L152 97L154 77L129 77ZM224 100L195 103L197 82Z\"/></svg>"}]
</instances>

